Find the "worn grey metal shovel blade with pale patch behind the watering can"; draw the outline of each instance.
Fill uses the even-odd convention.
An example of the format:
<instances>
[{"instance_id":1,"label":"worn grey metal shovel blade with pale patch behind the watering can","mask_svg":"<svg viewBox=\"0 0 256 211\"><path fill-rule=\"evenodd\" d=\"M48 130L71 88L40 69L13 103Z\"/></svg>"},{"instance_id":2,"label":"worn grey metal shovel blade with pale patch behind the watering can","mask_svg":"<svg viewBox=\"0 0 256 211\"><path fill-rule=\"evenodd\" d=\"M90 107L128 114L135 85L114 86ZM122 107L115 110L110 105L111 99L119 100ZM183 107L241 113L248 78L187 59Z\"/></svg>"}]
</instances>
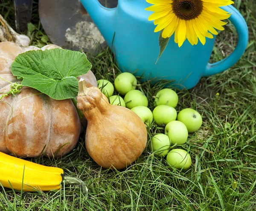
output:
<instances>
[{"instance_id":1,"label":"worn grey metal shovel blade with pale patch behind the watering can","mask_svg":"<svg viewBox=\"0 0 256 211\"><path fill-rule=\"evenodd\" d=\"M114 8L117 0L99 0ZM52 43L70 50L98 52L107 46L79 0L39 0L39 17Z\"/></svg>"}]
</instances>

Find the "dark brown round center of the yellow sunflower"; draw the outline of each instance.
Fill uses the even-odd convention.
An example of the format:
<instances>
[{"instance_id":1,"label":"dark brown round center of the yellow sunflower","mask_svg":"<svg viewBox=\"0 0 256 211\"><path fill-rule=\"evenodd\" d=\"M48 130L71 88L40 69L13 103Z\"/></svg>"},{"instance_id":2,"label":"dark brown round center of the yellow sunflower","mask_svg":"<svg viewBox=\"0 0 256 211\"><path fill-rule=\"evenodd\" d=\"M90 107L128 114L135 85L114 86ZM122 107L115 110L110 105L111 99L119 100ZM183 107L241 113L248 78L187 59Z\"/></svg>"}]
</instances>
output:
<instances>
[{"instance_id":1,"label":"dark brown round center of the yellow sunflower","mask_svg":"<svg viewBox=\"0 0 256 211\"><path fill-rule=\"evenodd\" d=\"M203 11L203 3L201 0L173 0L172 9L180 19L192 20Z\"/></svg>"}]
</instances>

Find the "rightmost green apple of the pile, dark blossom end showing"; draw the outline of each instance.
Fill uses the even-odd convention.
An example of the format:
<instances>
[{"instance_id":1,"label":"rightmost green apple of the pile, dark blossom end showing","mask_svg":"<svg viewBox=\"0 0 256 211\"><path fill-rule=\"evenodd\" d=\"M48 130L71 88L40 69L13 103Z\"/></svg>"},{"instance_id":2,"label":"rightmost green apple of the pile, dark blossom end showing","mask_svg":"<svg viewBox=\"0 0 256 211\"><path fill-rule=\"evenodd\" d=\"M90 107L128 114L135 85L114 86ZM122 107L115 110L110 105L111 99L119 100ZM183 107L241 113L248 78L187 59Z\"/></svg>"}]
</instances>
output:
<instances>
[{"instance_id":1,"label":"rightmost green apple of the pile, dark blossom end showing","mask_svg":"<svg viewBox=\"0 0 256 211\"><path fill-rule=\"evenodd\" d=\"M177 115L177 120L186 125L189 133L197 131L203 123L201 114L192 108L184 108L181 110Z\"/></svg>"}]
</instances>

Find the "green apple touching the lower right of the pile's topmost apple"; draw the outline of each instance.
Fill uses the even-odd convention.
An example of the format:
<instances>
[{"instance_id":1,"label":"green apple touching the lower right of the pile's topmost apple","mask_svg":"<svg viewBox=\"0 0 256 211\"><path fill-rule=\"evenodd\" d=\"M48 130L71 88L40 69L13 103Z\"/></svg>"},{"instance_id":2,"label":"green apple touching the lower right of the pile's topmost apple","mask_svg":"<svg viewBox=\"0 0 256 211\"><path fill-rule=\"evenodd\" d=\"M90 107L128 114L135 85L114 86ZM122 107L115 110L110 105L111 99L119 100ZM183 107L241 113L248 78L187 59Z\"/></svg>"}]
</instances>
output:
<instances>
[{"instance_id":1,"label":"green apple touching the lower right of the pile's topmost apple","mask_svg":"<svg viewBox=\"0 0 256 211\"><path fill-rule=\"evenodd\" d=\"M131 90L125 94L124 97L126 108L134 108L136 106L148 107L148 98L140 90Z\"/></svg>"}]
</instances>

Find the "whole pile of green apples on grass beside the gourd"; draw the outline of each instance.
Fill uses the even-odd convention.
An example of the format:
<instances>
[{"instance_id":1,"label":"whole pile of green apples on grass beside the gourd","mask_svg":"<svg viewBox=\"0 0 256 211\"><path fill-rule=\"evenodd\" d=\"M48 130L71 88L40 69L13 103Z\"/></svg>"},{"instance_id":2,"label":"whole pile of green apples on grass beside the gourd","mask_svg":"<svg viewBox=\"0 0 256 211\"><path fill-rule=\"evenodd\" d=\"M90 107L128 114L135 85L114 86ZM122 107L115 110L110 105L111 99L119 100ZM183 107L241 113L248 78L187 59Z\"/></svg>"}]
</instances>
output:
<instances>
[{"instance_id":1,"label":"whole pile of green apples on grass beside the gourd","mask_svg":"<svg viewBox=\"0 0 256 211\"><path fill-rule=\"evenodd\" d=\"M123 72L114 80L101 79L97 81L98 88L108 97L112 105L124 106L134 111L143 122L150 127L153 123L164 128L164 133L151 137L149 148L156 156L166 157L166 163L173 168L187 170L192 161L189 153L180 148L174 148L186 143L189 133L197 131L202 125L202 117L192 108L184 108L177 112L178 95L171 88L163 88L154 96L154 109L148 108L148 99L142 91L137 90L137 79ZM116 90L119 95L113 95ZM121 97L121 96L124 97ZM171 150L171 148L173 148Z\"/></svg>"}]
</instances>

